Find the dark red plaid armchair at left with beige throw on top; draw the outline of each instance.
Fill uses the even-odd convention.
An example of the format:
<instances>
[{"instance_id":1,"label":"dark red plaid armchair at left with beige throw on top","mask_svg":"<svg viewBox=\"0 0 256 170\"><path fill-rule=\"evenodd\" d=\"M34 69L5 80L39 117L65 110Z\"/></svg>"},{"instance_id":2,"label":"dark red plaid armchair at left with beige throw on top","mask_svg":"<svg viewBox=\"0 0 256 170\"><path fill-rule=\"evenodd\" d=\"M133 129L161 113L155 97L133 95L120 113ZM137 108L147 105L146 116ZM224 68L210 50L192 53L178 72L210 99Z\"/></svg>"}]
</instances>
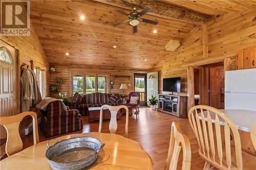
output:
<instances>
[{"instance_id":1,"label":"dark red plaid armchair at left with beige throw on top","mask_svg":"<svg viewBox=\"0 0 256 170\"><path fill-rule=\"evenodd\" d=\"M51 102L42 111L40 129L46 137L78 131L83 128L78 110L63 110L60 101Z\"/></svg>"}]
</instances>

